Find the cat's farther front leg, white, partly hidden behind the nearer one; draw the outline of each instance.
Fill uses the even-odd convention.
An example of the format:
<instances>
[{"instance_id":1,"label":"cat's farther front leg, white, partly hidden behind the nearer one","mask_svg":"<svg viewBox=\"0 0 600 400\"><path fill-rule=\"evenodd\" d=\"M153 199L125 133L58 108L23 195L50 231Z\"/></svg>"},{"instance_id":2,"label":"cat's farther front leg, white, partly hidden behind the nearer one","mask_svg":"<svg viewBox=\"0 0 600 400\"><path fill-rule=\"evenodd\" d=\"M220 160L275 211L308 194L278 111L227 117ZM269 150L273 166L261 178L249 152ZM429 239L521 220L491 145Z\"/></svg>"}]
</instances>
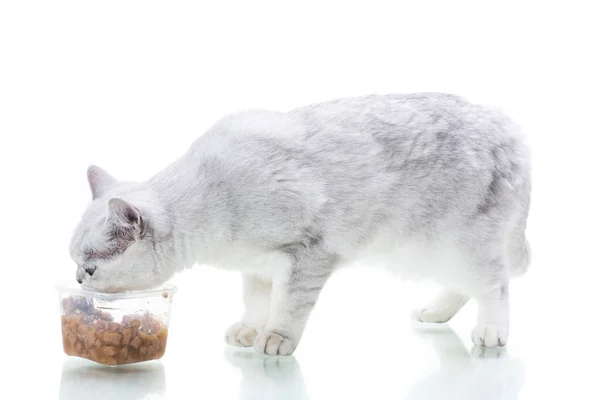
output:
<instances>
[{"instance_id":1,"label":"cat's farther front leg, white, partly hidden behind the nearer one","mask_svg":"<svg viewBox=\"0 0 600 400\"><path fill-rule=\"evenodd\" d=\"M250 347L269 318L271 282L249 274L244 274L242 279L244 315L240 322L227 329L225 341L233 346Z\"/></svg>"}]
</instances>

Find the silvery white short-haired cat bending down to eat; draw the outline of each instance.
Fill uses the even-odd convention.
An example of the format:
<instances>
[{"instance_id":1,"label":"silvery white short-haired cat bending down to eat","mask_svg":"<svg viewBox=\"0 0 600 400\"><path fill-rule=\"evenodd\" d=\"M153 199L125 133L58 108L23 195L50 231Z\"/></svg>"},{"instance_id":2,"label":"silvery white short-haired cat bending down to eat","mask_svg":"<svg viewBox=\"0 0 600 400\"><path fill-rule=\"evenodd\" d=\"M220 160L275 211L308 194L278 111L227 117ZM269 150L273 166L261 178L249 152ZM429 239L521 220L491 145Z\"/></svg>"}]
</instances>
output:
<instances>
[{"instance_id":1,"label":"silvery white short-haired cat bending down to eat","mask_svg":"<svg viewBox=\"0 0 600 400\"><path fill-rule=\"evenodd\" d=\"M370 260L444 288L415 319L446 322L473 298L474 343L504 346L509 282L530 263L525 142L501 111L445 93L238 112L148 181L88 169L76 279L116 292L195 263L239 270L245 312L226 341L289 355L334 270Z\"/></svg>"}]
</instances>

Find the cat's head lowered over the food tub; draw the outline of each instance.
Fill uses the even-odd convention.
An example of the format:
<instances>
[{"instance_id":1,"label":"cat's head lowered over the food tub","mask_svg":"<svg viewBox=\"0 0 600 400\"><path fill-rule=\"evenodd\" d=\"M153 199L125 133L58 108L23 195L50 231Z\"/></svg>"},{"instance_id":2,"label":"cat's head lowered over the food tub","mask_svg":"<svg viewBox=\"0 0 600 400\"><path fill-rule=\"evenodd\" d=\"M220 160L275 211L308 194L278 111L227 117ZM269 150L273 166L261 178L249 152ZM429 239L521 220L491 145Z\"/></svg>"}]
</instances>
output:
<instances>
[{"instance_id":1,"label":"cat's head lowered over the food tub","mask_svg":"<svg viewBox=\"0 0 600 400\"><path fill-rule=\"evenodd\" d=\"M118 292L156 287L174 273L161 254L164 212L144 184L119 182L99 167L88 169L92 202L71 240L76 279L84 287ZM164 233L164 232L163 232ZM157 247L159 250L157 251Z\"/></svg>"}]
</instances>

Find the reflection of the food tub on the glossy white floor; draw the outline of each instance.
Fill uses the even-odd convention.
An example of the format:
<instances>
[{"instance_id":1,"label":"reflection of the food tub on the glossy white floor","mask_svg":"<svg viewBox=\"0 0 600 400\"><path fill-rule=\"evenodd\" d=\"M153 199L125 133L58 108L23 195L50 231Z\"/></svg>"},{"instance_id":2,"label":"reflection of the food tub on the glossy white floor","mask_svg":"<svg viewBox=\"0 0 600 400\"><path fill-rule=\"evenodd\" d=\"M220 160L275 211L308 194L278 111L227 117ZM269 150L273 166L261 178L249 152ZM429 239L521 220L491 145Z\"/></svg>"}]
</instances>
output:
<instances>
[{"instance_id":1,"label":"reflection of the food tub on the glossy white floor","mask_svg":"<svg viewBox=\"0 0 600 400\"><path fill-rule=\"evenodd\" d=\"M158 361L111 368L68 358L63 364L59 399L160 399L165 388L165 370Z\"/></svg>"}]
</instances>

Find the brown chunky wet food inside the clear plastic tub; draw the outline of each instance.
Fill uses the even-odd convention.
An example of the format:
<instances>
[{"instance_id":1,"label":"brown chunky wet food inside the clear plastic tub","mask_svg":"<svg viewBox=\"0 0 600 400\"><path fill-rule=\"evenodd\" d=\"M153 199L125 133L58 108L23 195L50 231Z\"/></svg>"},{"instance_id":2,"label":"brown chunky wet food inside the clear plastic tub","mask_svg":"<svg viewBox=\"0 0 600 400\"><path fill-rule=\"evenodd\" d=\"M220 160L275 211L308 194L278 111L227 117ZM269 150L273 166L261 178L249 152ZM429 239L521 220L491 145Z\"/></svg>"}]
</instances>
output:
<instances>
[{"instance_id":1,"label":"brown chunky wet food inside the clear plastic tub","mask_svg":"<svg viewBox=\"0 0 600 400\"><path fill-rule=\"evenodd\" d=\"M167 326L150 314L125 315L121 322L95 308L85 297L62 302L65 353L106 365L161 358L167 346Z\"/></svg>"}]
</instances>

